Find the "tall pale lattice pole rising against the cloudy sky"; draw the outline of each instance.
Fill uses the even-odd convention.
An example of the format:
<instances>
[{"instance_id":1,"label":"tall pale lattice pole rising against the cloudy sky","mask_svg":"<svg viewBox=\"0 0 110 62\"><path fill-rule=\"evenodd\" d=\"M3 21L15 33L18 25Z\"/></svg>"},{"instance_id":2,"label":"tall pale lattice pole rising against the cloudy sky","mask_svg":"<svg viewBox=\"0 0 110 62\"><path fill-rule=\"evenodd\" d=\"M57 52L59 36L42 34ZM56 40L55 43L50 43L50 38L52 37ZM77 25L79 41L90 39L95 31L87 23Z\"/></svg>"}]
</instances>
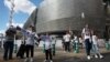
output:
<instances>
[{"instance_id":1,"label":"tall pale lattice pole rising against the cloudy sky","mask_svg":"<svg viewBox=\"0 0 110 62\"><path fill-rule=\"evenodd\" d=\"M14 14L14 7L15 7L15 4L14 4L14 0L8 0L8 1L10 1L11 2L11 10L10 10L10 16L9 16L9 27L10 25L12 25L12 23L13 23L13 14Z\"/></svg>"}]
</instances>

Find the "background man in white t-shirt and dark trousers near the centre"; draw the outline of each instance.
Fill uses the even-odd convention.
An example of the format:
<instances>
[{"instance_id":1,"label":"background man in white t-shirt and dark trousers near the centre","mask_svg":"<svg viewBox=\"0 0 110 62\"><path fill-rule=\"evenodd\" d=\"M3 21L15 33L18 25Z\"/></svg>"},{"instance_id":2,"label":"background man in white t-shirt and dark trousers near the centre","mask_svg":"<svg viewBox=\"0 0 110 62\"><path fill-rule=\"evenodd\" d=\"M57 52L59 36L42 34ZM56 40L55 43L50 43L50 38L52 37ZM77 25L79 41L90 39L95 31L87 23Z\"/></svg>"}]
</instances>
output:
<instances>
[{"instance_id":1,"label":"background man in white t-shirt and dark trousers near the centre","mask_svg":"<svg viewBox=\"0 0 110 62\"><path fill-rule=\"evenodd\" d=\"M64 39L64 45L65 45L65 51L70 51L70 34L69 34L69 32L67 32L64 37L63 37L63 39Z\"/></svg>"}]
</instances>

